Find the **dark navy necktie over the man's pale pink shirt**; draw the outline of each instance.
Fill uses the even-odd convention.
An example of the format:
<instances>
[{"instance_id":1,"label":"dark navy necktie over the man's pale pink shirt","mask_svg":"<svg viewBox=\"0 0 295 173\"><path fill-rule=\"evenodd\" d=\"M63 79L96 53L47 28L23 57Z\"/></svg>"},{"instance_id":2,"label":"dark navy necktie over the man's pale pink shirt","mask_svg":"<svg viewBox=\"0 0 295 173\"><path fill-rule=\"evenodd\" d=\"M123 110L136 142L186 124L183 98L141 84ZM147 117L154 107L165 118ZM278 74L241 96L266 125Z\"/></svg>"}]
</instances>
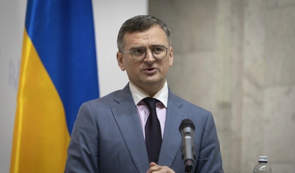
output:
<instances>
[{"instance_id":1,"label":"dark navy necktie over the man's pale pink shirt","mask_svg":"<svg viewBox=\"0 0 295 173\"><path fill-rule=\"evenodd\" d=\"M144 98L143 101L150 109L150 114L144 126L145 145L147 147L148 160L150 163L157 163L162 144L161 126L156 112L157 99L147 97Z\"/></svg>"}]
</instances>

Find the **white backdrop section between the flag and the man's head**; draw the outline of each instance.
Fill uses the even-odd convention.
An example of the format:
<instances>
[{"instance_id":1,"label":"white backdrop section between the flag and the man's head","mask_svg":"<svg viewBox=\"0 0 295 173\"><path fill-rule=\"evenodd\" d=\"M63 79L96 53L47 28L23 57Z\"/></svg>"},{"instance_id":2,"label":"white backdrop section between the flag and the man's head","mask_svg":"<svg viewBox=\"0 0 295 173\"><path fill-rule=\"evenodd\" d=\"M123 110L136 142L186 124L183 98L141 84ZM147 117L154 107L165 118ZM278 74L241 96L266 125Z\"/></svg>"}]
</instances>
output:
<instances>
[{"instance_id":1,"label":"white backdrop section between the flag and the man's head","mask_svg":"<svg viewBox=\"0 0 295 173\"><path fill-rule=\"evenodd\" d=\"M100 96L122 89L129 81L117 64L117 35L135 15L147 14L147 0L93 1Z\"/></svg>"}]
</instances>

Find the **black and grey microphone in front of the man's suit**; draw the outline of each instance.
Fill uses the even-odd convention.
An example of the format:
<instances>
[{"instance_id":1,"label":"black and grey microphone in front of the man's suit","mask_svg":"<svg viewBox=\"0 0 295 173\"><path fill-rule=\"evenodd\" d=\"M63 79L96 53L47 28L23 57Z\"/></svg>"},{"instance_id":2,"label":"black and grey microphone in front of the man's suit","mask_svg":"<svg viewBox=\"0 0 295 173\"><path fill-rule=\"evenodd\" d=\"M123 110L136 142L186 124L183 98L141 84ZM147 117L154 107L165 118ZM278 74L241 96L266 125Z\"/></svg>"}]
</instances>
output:
<instances>
[{"instance_id":1,"label":"black and grey microphone in front of the man's suit","mask_svg":"<svg viewBox=\"0 0 295 173\"><path fill-rule=\"evenodd\" d=\"M185 164L185 172L190 173L193 169L196 151L194 147L194 123L190 119L184 119L180 123L179 132L182 137L181 153Z\"/></svg>"}]
</instances>

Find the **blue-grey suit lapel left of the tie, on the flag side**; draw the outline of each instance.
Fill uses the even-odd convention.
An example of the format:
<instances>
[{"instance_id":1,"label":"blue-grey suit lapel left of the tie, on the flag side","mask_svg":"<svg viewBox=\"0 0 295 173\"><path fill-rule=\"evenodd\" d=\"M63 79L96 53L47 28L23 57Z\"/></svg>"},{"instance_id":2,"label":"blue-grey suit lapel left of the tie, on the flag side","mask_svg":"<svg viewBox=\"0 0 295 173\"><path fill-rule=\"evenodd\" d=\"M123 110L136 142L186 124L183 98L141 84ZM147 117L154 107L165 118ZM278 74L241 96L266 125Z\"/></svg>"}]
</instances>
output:
<instances>
[{"instance_id":1,"label":"blue-grey suit lapel left of the tie, on the flag side","mask_svg":"<svg viewBox=\"0 0 295 173\"><path fill-rule=\"evenodd\" d=\"M147 150L129 84L114 99L118 105L111 109L129 153L138 172L146 172L149 169Z\"/></svg>"}]
</instances>

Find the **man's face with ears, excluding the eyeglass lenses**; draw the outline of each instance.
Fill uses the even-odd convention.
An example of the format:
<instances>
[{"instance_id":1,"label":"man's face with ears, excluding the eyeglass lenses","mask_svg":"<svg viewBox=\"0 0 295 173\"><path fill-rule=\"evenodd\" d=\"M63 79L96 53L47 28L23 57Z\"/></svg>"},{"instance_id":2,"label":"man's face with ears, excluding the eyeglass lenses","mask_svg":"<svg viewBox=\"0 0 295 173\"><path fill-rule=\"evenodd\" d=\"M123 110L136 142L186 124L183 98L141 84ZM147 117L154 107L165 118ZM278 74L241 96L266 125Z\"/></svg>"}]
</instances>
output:
<instances>
[{"instance_id":1,"label":"man's face with ears, excluding the eyeglass lenses","mask_svg":"<svg viewBox=\"0 0 295 173\"><path fill-rule=\"evenodd\" d=\"M143 32L126 33L124 39L124 51L131 51L135 47L148 50L157 45L169 47L165 32L158 25ZM148 50L145 59L140 62L132 59L131 53L126 52L117 52L117 61L121 70L126 70L129 80L137 87L144 91L147 88L160 89L164 86L168 68L173 63L172 47L169 47L164 59L155 59L151 50Z\"/></svg>"}]
</instances>

